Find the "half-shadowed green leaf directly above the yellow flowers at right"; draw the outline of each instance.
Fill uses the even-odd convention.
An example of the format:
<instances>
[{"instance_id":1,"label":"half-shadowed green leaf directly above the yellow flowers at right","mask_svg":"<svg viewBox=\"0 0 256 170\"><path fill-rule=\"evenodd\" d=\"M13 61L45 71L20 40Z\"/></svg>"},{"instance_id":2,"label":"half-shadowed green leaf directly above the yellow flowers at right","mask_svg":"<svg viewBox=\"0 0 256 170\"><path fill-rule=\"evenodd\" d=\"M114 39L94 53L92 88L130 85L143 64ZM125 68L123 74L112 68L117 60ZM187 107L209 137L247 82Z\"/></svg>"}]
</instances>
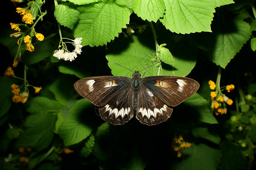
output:
<instances>
[{"instance_id":1,"label":"half-shadowed green leaf directly above the yellow flowers at right","mask_svg":"<svg viewBox=\"0 0 256 170\"><path fill-rule=\"evenodd\" d=\"M210 61L225 69L251 35L250 25L241 19L214 24L214 32L203 37Z\"/></svg>"}]
</instances>

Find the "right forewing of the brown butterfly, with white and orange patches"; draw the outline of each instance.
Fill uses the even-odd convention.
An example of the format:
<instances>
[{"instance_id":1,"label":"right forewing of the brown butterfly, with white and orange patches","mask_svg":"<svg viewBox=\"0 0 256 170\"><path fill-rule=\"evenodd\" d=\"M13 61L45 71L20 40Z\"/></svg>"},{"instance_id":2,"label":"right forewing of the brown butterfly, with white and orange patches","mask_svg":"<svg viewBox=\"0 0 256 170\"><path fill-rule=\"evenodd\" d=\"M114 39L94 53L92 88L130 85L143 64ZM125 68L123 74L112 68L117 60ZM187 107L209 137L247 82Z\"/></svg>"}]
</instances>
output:
<instances>
[{"instance_id":1,"label":"right forewing of the brown butterfly, with white and orange patches","mask_svg":"<svg viewBox=\"0 0 256 170\"><path fill-rule=\"evenodd\" d=\"M142 79L148 88L164 104L175 107L191 97L199 88L193 79L180 76L148 76Z\"/></svg>"}]
</instances>

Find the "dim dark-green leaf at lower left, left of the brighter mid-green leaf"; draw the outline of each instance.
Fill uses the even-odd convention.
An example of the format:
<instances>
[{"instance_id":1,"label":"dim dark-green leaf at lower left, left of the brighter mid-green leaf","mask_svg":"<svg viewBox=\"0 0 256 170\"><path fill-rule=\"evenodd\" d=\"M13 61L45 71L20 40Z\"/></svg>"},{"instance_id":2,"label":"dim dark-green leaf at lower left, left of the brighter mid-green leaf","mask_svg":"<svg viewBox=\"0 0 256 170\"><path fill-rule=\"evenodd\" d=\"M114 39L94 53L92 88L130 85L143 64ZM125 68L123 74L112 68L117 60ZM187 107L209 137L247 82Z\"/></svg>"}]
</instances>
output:
<instances>
[{"instance_id":1,"label":"dim dark-green leaf at lower left, left of the brighter mid-green leaf","mask_svg":"<svg viewBox=\"0 0 256 170\"><path fill-rule=\"evenodd\" d=\"M24 126L26 130L16 142L17 147L32 147L35 150L47 148L53 139L56 115L52 113L31 114L27 117Z\"/></svg>"}]
</instances>

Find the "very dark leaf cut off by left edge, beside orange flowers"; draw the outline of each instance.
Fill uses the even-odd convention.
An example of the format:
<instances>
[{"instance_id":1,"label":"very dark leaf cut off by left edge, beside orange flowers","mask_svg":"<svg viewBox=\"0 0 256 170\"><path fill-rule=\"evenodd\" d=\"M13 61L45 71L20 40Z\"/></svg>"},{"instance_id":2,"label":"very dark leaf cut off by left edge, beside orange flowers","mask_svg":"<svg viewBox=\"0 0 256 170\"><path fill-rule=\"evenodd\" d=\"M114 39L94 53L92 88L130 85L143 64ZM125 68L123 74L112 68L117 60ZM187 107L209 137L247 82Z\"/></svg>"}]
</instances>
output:
<instances>
[{"instance_id":1,"label":"very dark leaf cut off by left edge, beside orange flowers","mask_svg":"<svg viewBox=\"0 0 256 170\"><path fill-rule=\"evenodd\" d=\"M11 98L13 97L11 84L13 84L13 82L11 82L11 79L4 76L0 77L0 82L0 118L2 118L11 107Z\"/></svg>"}]
</instances>

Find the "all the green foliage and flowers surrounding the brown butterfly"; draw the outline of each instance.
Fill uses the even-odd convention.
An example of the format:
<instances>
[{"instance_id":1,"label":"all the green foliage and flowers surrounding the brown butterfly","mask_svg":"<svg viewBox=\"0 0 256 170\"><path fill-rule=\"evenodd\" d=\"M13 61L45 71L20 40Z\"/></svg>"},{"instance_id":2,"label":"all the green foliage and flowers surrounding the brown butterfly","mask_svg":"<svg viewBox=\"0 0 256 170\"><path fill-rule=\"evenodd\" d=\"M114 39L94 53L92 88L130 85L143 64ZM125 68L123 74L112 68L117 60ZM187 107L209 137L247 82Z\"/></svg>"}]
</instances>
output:
<instances>
[{"instance_id":1,"label":"all the green foliage and flowers surrounding the brown butterfly","mask_svg":"<svg viewBox=\"0 0 256 170\"><path fill-rule=\"evenodd\" d=\"M254 5L254 0L6 3L10 17L0 37L1 169L255 168ZM166 122L146 126L133 118L114 126L73 84L86 76L131 77L115 63L134 71L154 65L144 76L188 76L200 89Z\"/></svg>"}]
</instances>

